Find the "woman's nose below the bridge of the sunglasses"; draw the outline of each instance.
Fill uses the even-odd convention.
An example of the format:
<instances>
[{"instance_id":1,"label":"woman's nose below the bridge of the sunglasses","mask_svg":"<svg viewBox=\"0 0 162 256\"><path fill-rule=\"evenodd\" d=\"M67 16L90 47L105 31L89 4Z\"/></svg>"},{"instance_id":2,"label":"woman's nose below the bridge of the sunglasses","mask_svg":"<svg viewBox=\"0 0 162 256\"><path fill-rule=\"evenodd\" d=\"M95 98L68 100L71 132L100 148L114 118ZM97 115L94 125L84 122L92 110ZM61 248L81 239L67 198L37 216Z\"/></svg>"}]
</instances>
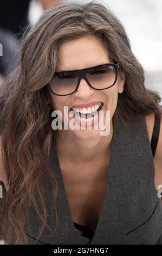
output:
<instances>
[{"instance_id":1,"label":"woman's nose below the bridge of the sunglasses","mask_svg":"<svg viewBox=\"0 0 162 256\"><path fill-rule=\"evenodd\" d=\"M94 94L95 89L90 88L87 82L82 78L80 80L79 88L77 88L77 91L75 92L76 97L84 97L89 98Z\"/></svg>"}]
</instances>

